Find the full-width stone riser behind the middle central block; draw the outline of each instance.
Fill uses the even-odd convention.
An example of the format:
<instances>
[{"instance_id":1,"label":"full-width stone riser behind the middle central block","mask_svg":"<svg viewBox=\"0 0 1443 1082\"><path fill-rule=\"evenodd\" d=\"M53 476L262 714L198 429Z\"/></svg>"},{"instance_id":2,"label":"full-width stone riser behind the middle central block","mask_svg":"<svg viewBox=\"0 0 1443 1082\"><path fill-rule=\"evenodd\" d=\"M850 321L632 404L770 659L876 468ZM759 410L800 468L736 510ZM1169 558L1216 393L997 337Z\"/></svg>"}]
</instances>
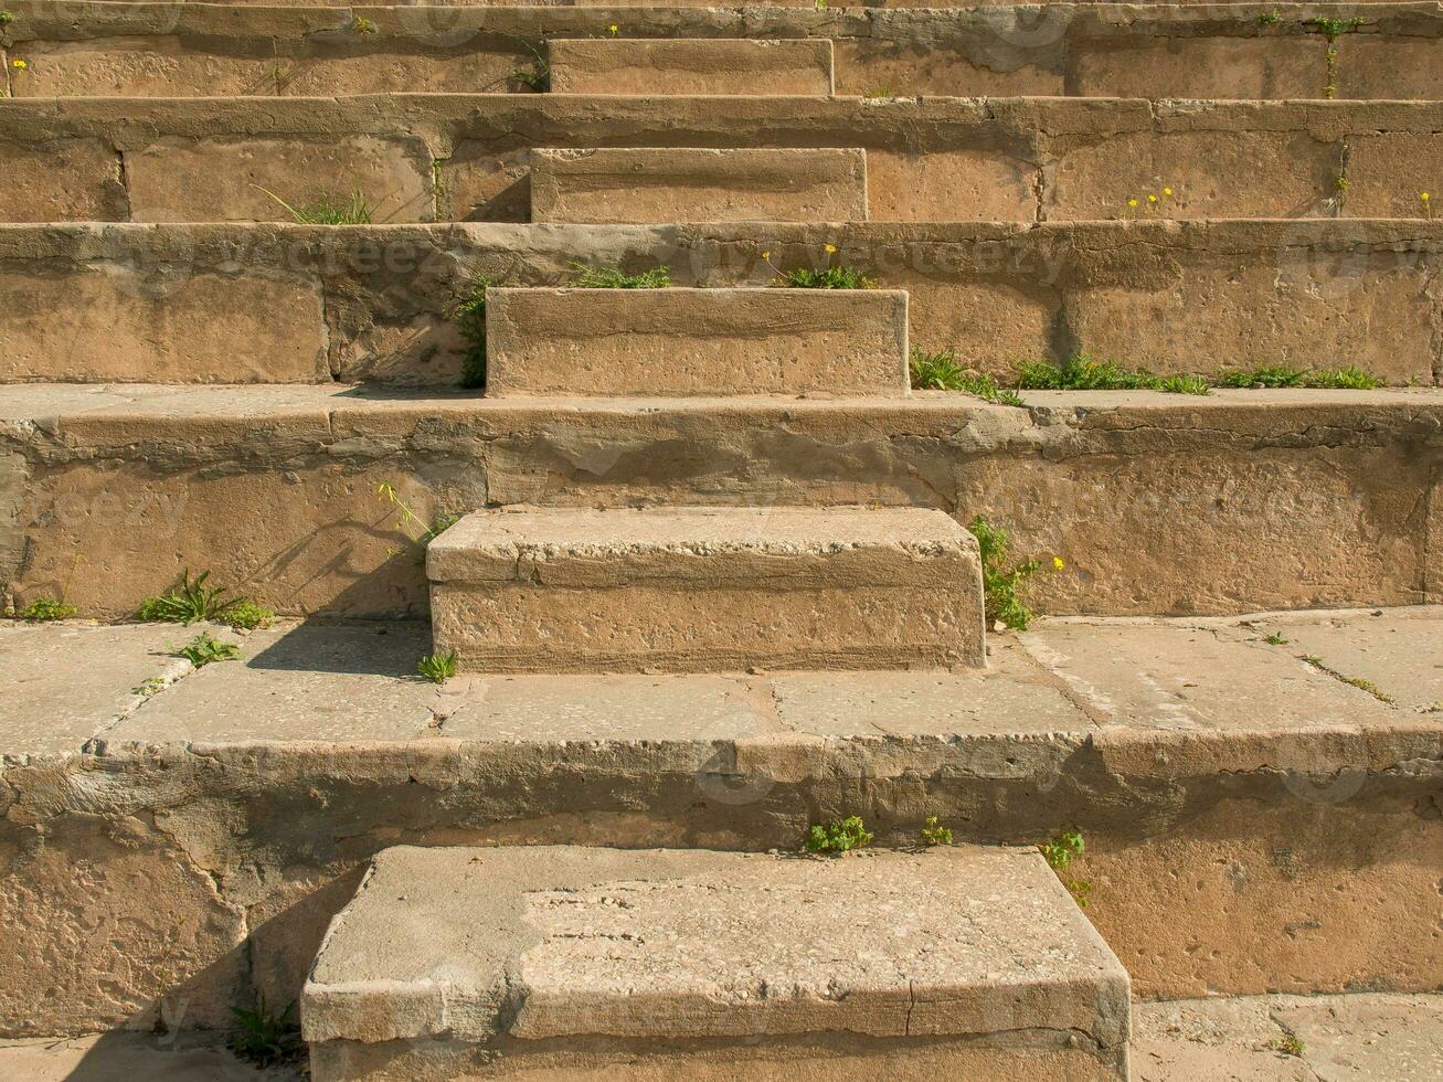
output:
<instances>
[{"instance_id":1,"label":"full-width stone riser behind the middle central block","mask_svg":"<svg viewBox=\"0 0 1443 1082\"><path fill-rule=\"evenodd\" d=\"M628 270L670 265L675 284L709 287L771 284L772 264L841 263L908 291L912 345L955 349L1003 379L1020 361L1087 349L1157 374L1352 364L1430 385L1443 371L1439 251L1443 222L12 226L0 267L27 300L0 309L0 358L12 382L92 378L101 362L117 381L180 381L186 368L242 381L264 368L302 382L323 351L343 382L456 385L463 345L449 316L473 274L556 284L571 263L625 257ZM58 349L45 313L78 309L82 333ZM206 353L193 329L216 310L266 333ZM134 368L114 371L105 351Z\"/></svg>"}]
</instances>

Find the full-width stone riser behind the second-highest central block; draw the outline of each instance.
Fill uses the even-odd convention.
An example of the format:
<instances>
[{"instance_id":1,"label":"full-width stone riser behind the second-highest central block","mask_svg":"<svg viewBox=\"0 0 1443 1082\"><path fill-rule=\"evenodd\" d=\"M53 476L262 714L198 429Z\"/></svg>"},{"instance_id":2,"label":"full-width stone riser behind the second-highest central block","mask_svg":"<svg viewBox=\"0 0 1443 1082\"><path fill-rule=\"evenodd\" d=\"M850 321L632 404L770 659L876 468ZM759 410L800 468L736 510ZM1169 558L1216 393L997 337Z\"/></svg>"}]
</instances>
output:
<instances>
[{"instance_id":1,"label":"full-width stone riser behind the second-highest central block","mask_svg":"<svg viewBox=\"0 0 1443 1082\"><path fill-rule=\"evenodd\" d=\"M1417 218L1443 172L1440 127L1431 102L20 100L0 110L0 219L289 221L261 188L306 206L329 185L358 186L377 222L525 221L531 147L605 143L605 157L683 140L864 149L867 215L831 221L1095 219L1163 186L1169 218L1328 216L1345 151L1343 215Z\"/></svg>"}]
</instances>

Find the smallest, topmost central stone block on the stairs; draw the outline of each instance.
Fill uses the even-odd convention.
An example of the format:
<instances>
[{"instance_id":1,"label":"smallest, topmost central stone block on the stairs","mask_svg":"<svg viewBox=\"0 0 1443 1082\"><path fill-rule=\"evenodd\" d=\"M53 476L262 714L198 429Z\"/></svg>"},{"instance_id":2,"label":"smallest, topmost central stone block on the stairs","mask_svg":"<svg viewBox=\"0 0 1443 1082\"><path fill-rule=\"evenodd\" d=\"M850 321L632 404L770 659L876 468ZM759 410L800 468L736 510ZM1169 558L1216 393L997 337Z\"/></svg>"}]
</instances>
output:
<instances>
[{"instance_id":1,"label":"smallest, topmost central stone block on the stairs","mask_svg":"<svg viewBox=\"0 0 1443 1082\"><path fill-rule=\"evenodd\" d=\"M554 38L557 94L773 97L835 89L830 38Z\"/></svg>"}]
</instances>

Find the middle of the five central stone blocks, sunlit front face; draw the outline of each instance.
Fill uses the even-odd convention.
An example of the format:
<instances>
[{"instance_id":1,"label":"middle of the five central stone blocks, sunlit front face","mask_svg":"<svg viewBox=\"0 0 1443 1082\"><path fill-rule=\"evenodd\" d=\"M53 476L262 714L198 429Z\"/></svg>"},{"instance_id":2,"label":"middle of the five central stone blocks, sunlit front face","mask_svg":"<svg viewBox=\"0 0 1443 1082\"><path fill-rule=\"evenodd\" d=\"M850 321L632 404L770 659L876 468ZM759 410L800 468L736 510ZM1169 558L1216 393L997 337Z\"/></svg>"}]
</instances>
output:
<instances>
[{"instance_id":1,"label":"middle of the five central stone blocks, sunlit front face","mask_svg":"<svg viewBox=\"0 0 1443 1082\"><path fill-rule=\"evenodd\" d=\"M491 289L486 394L909 392L906 293Z\"/></svg>"}]
</instances>

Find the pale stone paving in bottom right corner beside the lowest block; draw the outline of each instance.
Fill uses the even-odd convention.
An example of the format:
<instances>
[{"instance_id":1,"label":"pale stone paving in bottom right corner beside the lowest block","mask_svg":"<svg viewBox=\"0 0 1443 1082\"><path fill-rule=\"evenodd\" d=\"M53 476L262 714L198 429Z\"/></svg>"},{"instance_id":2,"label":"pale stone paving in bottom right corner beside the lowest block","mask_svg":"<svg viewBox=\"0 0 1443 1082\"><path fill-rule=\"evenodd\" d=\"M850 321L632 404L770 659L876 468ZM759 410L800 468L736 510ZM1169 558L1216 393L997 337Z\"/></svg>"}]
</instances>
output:
<instances>
[{"instance_id":1,"label":"pale stone paving in bottom right corner beside the lowest block","mask_svg":"<svg viewBox=\"0 0 1443 1082\"><path fill-rule=\"evenodd\" d=\"M1260 995L1133 1007L1140 1082L1364 1082L1443 1073L1437 995ZM1296 1037L1300 1055L1283 1052Z\"/></svg>"}]
</instances>

